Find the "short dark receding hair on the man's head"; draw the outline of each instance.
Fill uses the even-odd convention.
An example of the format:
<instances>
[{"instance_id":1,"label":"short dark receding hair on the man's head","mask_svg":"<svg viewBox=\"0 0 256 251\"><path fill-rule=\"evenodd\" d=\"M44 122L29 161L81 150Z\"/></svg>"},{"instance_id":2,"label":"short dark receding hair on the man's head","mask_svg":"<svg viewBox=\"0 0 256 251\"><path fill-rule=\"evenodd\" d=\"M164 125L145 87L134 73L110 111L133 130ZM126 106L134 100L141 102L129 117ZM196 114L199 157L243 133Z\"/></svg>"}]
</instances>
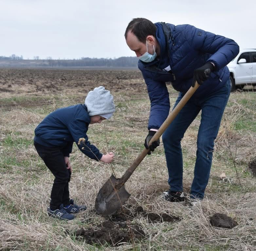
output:
<instances>
[{"instance_id":1,"label":"short dark receding hair on the man's head","mask_svg":"<svg viewBox=\"0 0 256 251\"><path fill-rule=\"evenodd\" d=\"M124 37L131 31L140 42L145 43L148 35L155 37L156 26L146 18L134 18L127 26Z\"/></svg>"}]
</instances>

